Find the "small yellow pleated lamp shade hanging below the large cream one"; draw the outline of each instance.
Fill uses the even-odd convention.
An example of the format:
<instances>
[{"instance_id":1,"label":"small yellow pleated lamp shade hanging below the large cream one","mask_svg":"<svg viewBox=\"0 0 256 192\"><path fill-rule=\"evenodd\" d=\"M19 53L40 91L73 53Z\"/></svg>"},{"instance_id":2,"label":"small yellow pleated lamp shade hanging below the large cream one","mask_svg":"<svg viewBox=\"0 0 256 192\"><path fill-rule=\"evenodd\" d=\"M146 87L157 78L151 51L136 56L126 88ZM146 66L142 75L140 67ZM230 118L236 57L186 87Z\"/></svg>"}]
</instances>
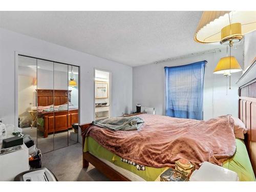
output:
<instances>
[{"instance_id":1,"label":"small yellow pleated lamp shade hanging below the large cream one","mask_svg":"<svg viewBox=\"0 0 256 192\"><path fill-rule=\"evenodd\" d=\"M230 73L236 73L242 71L236 57L234 56L228 56L228 57L222 57L215 70L214 73L216 74L224 74L224 75L230 75Z\"/></svg>"}]
</instances>

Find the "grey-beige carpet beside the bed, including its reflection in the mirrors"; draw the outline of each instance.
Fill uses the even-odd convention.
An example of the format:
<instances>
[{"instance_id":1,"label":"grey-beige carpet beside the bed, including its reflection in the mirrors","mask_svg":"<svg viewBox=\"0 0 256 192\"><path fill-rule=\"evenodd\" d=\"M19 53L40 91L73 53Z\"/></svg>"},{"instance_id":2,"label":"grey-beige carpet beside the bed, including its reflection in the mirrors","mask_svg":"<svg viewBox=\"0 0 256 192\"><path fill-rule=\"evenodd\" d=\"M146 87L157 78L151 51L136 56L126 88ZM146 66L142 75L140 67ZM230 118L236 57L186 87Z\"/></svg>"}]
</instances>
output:
<instances>
[{"instance_id":1,"label":"grey-beige carpet beside the bed, including its reflection in the mirrors","mask_svg":"<svg viewBox=\"0 0 256 192\"><path fill-rule=\"evenodd\" d=\"M69 134L70 132L72 130L69 130ZM44 138L42 133L36 132L36 127L23 128L23 134L30 135L35 143L37 139L37 148L40 148L42 153L48 152L42 154L42 167L50 169L59 181L109 181L91 164L88 168L82 168L82 145L68 140L67 132L55 133L54 147L59 148L55 151L52 151L53 134ZM68 142L70 146L65 147Z\"/></svg>"}]
</instances>

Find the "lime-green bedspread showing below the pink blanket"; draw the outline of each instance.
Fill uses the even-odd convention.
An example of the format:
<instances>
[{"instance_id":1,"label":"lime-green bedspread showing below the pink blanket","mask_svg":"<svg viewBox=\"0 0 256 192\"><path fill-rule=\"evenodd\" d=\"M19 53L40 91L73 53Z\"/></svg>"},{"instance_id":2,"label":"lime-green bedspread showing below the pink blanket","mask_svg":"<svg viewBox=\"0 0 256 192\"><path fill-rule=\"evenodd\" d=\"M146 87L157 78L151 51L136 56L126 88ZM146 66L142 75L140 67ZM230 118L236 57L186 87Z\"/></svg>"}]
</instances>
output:
<instances>
[{"instance_id":1,"label":"lime-green bedspread showing below the pink blanket","mask_svg":"<svg viewBox=\"0 0 256 192\"><path fill-rule=\"evenodd\" d=\"M255 181L252 166L249 160L249 156L242 140L236 139L237 151L234 156L224 162L223 167L228 168L236 172L240 181ZM112 152L106 150L92 137L87 137L84 142L84 152L90 152L92 155L98 158L102 158L112 162L113 164L122 167L130 172L140 176L146 181L155 181L157 177L163 172L166 167L154 168L146 167L145 170L137 170L136 166L127 164L121 161L121 158Z\"/></svg>"}]
</instances>

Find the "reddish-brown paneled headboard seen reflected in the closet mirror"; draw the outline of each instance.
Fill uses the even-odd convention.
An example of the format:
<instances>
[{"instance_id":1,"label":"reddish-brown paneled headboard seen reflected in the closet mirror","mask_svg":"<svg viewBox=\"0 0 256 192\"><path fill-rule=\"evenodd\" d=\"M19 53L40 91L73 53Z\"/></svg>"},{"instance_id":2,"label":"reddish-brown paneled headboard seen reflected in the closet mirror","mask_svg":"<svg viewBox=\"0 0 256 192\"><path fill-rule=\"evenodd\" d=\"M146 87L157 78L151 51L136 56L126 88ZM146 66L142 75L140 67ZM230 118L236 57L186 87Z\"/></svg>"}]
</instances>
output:
<instances>
[{"instance_id":1,"label":"reddish-brown paneled headboard seen reflected in the closet mirror","mask_svg":"<svg viewBox=\"0 0 256 192\"><path fill-rule=\"evenodd\" d=\"M54 91L54 92L53 92ZM70 101L71 90L50 90L50 89L38 89L37 92L37 106L47 106L65 104Z\"/></svg>"}]
</instances>

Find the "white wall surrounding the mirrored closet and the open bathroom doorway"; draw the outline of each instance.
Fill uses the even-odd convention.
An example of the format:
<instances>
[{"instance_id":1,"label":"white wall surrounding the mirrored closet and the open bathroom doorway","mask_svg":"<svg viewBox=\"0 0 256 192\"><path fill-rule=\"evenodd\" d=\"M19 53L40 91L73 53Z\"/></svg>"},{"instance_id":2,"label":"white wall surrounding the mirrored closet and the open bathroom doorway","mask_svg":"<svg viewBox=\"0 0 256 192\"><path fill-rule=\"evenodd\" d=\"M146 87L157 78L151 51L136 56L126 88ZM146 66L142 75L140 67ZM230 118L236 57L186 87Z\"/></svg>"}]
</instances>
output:
<instances>
[{"instance_id":1,"label":"white wall surrounding the mirrored closet and the open bathroom doorway","mask_svg":"<svg viewBox=\"0 0 256 192\"><path fill-rule=\"evenodd\" d=\"M133 75L131 67L0 29L0 118L3 118L5 123L14 124L16 121L15 51L80 66L81 123L91 122L94 118L94 68L112 72L112 116L131 112Z\"/></svg>"}]
</instances>

